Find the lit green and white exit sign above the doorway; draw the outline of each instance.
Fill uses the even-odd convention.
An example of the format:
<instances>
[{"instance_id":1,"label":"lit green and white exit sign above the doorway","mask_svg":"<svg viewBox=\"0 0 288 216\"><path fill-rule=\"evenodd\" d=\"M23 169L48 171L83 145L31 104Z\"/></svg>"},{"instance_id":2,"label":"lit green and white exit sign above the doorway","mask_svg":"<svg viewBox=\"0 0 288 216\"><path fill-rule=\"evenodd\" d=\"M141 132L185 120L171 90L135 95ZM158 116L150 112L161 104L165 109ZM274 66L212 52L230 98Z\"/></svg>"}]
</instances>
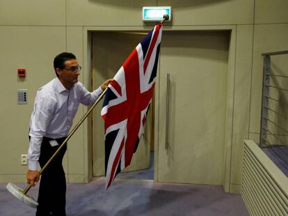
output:
<instances>
[{"instance_id":1,"label":"lit green and white exit sign above the doorway","mask_svg":"<svg viewBox=\"0 0 288 216\"><path fill-rule=\"evenodd\" d=\"M142 19L145 22L162 21L163 15L168 15L169 19L166 22L171 21L171 7L143 7Z\"/></svg>"}]
</instances>

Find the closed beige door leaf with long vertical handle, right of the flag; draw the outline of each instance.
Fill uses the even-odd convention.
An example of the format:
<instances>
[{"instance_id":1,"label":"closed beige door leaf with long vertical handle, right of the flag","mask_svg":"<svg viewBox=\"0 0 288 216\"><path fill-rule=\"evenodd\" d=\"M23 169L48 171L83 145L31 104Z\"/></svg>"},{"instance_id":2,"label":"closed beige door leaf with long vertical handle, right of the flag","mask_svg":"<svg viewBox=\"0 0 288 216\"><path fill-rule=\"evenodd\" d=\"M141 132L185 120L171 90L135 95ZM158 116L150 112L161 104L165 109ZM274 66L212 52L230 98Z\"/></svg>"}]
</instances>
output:
<instances>
[{"instance_id":1,"label":"closed beige door leaf with long vertical handle, right of the flag","mask_svg":"<svg viewBox=\"0 0 288 216\"><path fill-rule=\"evenodd\" d=\"M163 32L158 181L222 185L229 34Z\"/></svg>"}]
</instances>

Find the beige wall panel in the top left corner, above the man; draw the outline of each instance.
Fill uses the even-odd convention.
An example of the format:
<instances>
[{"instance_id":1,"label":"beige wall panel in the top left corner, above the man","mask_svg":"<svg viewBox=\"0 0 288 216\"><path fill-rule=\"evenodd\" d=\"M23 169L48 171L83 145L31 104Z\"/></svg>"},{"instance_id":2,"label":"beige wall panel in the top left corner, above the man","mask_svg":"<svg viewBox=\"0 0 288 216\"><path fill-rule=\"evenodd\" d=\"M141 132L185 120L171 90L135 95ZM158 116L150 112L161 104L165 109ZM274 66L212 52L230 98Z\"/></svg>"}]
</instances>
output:
<instances>
[{"instance_id":1,"label":"beige wall panel in the top left corner, above the man","mask_svg":"<svg viewBox=\"0 0 288 216\"><path fill-rule=\"evenodd\" d=\"M0 0L0 25L65 25L65 0Z\"/></svg>"}]
</instances>

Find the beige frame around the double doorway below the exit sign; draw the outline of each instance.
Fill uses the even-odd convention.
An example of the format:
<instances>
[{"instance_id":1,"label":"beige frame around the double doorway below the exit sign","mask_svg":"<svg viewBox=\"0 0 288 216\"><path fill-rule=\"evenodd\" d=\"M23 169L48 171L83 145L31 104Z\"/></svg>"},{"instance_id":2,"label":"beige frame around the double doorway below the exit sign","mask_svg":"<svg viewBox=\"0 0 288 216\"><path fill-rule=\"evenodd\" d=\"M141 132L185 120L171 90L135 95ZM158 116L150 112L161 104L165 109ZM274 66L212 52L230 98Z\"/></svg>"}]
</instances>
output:
<instances>
[{"instance_id":1,"label":"beige frame around the double doorway below the exit sign","mask_svg":"<svg viewBox=\"0 0 288 216\"><path fill-rule=\"evenodd\" d=\"M87 68L86 74L83 74L83 84L90 86L92 90L92 35L95 31L149 31L152 26L84 26L83 27L83 67ZM227 106L226 106L226 124L225 124L225 144L224 144L224 174L223 174L223 189L225 192L230 192L230 169L231 169L231 149L232 149L232 117L233 117L233 101L234 101L234 76L235 76L235 56L236 56L236 26L167 26L164 31L230 31L230 49L228 57L228 70L227 70ZM85 42L86 41L86 42ZM161 54L161 53L160 53ZM156 82L155 85L155 119L158 119L159 115L159 86ZM157 182L157 147L159 140L159 124L157 121L154 122L154 181ZM92 128L91 128L91 117L88 119L88 124L83 128L86 139L84 139L84 181L88 182L93 178L92 169Z\"/></svg>"}]
</instances>

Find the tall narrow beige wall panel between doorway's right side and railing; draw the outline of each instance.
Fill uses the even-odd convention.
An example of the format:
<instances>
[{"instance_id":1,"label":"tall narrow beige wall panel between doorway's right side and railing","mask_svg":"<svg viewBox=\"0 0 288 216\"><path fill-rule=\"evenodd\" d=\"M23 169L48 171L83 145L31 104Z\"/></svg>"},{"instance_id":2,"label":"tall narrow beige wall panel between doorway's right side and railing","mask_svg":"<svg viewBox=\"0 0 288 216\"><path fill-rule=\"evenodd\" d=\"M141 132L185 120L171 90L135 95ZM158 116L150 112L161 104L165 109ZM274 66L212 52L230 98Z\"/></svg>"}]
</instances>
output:
<instances>
[{"instance_id":1,"label":"tall narrow beige wall panel between doorway's right side and railing","mask_svg":"<svg viewBox=\"0 0 288 216\"><path fill-rule=\"evenodd\" d=\"M237 26L230 183L241 184L243 140L248 139L253 25Z\"/></svg>"}]
</instances>

